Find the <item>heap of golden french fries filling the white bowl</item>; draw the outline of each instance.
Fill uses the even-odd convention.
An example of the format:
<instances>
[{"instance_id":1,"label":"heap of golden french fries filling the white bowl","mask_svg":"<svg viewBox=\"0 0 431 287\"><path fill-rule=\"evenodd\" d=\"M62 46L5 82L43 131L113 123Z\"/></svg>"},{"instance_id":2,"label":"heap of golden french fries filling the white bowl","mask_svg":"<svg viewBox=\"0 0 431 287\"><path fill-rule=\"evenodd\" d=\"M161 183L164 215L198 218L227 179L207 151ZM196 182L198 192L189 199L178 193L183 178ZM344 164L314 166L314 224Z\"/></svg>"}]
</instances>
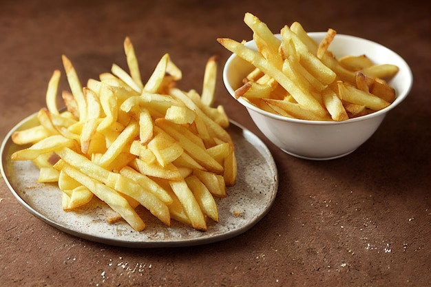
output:
<instances>
[{"instance_id":1,"label":"heap of golden french fries filling the white bowl","mask_svg":"<svg viewBox=\"0 0 431 287\"><path fill-rule=\"evenodd\" d=\"M383 109L395 100L387 81L398 67L375 65L365 55L335 59L328 50L337 34L329 29L317 43L294 22L278 39L265 23L246 13L257 51L232 39L218 42L251 63L255 69L235 90L236 98L273 114L302 120L342 121Z\"/></svg>"}]
</instances>

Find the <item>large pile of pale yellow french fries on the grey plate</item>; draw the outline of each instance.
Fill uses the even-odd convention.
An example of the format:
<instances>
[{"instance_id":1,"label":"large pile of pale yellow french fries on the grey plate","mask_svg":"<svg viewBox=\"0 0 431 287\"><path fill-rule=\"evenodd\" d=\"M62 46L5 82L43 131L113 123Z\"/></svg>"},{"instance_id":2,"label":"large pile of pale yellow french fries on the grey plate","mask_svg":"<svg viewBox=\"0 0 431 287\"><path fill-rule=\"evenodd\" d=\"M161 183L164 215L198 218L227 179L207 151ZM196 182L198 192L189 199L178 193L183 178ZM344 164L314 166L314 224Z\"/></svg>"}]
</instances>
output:
<instances>
[{"instance_id":1,"label":"large pile of pale yellow french fries on the grey plate","mask_svg":"<svg viewBox=\"0 0 431 287\"><path fill-rule=\"evenodd\" d=\"M174 219L206 231L207 218L219 220L216 198L227 196L237 176L229 118L222 106L211 107L215 58L207 62L200 95L176 86L182 71L169 54L144 84L129 37L124 50L129 72L113 64L85 87L63 56L65 109L56 105L56 70L47 107L37 114L40 125L12 134L14 143L28 145L12 160L32 160L38 182L58 182L65 211L98 198L116 211L108 222L124 219L136 231L145 228L140 205L166 226Z\"/></svg>"}]
</instances>

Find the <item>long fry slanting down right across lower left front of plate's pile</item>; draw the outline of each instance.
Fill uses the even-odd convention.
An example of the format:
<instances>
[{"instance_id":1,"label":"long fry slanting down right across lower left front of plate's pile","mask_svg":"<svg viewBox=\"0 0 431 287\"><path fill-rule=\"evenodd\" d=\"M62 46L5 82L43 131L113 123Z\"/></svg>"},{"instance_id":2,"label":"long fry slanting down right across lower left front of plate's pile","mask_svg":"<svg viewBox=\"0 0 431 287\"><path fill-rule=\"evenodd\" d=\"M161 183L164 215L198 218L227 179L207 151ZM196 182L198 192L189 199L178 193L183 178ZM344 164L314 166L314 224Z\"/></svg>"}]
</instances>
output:
<instances>
[{"instance_id":1,"label":"long fry slanting down right across lower left front of plate's pile","mask_svg":"<svg viewBox=\"0 0 431 287\"><path fill-rule=\"evenodd\" d=\"M62 170L67 173L68 176L83 184L87 187L96 197L105 202L114 211L121 215L125 221L132 226L136 231L143 231L145 223L139 217L138 213L130 206L129 202L123 196L121 196L116 190L107 185L94 180L87 176L85 173L78 171L74 167L70 166L66 162L60 160L54 165L56 169Z\"/></svg>"}]
</instances>

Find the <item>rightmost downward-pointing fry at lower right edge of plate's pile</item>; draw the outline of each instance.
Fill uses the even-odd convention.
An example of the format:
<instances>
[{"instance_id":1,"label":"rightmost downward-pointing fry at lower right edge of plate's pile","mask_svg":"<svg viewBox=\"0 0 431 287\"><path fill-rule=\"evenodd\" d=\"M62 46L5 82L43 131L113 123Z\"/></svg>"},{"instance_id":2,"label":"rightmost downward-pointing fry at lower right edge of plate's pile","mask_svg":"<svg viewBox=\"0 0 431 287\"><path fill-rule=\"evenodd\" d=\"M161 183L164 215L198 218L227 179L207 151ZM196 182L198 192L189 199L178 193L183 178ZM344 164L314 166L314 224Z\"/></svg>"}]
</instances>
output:
<instances>
[{"instance_id":1,"label":"rightmost downward-pointing fry at lower right edge of plate's pile","mask_svg":"<svg viewBox=\"0 0 431 287\"><path fill-rule=\"evenodd\" d=\"M218 208L213 195L209 192L205 184L196 176L189 176L185 179L189 189L195 196L202 212L215 222L218 222Z\"/></svg>"}]
</instances>

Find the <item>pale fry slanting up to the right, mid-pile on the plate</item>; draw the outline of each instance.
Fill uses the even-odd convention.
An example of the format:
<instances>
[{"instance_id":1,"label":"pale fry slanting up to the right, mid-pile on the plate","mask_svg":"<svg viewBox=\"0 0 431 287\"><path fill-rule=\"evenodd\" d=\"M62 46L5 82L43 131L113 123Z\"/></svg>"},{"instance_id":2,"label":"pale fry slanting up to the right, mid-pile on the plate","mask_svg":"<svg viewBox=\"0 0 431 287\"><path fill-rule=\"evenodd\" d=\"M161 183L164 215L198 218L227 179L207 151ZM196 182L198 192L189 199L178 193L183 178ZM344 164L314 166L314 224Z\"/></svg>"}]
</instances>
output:
<instances>
[{"instance_id":1,"label":"pale fry slanting up to the right, mid-pile on the plate","mask_svg":"<svg viewBox=\"0 0 431 287\"><path fill-rule=\"evenodd\" d=\"M136 123L136 121L132 121L132 123L125 127L125 129L121 131L114 142L112 142L112 144L108 147L107 151L98 161L98 164L100 164L101 167L105 167L110 164L113 160L115 160L116 156L118 156L118 154L120 154L123 149L138 135L139 125Z\"/></svg>"}]
</instances>

